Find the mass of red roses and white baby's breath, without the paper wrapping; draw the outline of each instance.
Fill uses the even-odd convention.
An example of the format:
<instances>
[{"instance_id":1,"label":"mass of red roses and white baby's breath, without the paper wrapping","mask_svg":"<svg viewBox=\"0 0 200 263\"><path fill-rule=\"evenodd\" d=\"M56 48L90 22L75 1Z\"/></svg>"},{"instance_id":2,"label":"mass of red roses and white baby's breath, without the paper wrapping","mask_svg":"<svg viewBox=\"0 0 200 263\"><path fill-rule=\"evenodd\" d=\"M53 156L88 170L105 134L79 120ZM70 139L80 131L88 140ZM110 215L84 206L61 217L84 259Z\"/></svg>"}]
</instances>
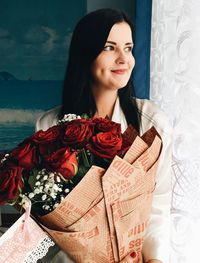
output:
<instances>
[{"instance_id":1,"label":"mass of red roses and white baby's breath, without the paper wrapping","mask_svg":"<svg viewBox=\"0 0 200 263\"><path fill-rule=\"evenodd\" d=\"M131 142L109 119L68 114L58 125L25 139L0 164L0 204L32 202L44 215L56 208L92 165L107 168Z\"/></svg>"}]
</instances>

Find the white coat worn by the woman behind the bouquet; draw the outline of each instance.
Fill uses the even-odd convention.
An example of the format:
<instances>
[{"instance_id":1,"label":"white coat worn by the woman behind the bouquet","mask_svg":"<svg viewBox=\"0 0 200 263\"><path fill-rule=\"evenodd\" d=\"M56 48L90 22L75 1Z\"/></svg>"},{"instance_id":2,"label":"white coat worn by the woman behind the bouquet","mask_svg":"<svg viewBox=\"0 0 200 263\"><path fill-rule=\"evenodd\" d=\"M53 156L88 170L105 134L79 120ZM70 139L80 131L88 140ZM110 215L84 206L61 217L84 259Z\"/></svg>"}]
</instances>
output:
<instances>
[{"instance_id":1,"label":"white coat worn by the woman behind the bouquet","mask_svg":"<svg viewBox=\"0 0 200 263\"><path fill-rule=\"evenodd\" d=\"M141 116L141 135L154 126L163 141L156 175L156 189L153 197L150 221L143 244L143 257L145 262L150 259L158 259L163 263L169 263L172 128L165 114L152 101L136 99L136 102ZM59 109L60 107L57 107L45 112L45 114L37 120L36 130L47 130L49 127L57 124ZM121 123L122 132L127 128L127 122L120 108L119 99L117 99L115 103L112 120ZM60 256L61 255L57 255L56 257L58 258ZM52 260L51 257L51 262L56 262L56 257L54 260ZM72 262L66 259L64 253L62 253L61 257L63 257L63 262Z\"/></svg>"}]
</instances>

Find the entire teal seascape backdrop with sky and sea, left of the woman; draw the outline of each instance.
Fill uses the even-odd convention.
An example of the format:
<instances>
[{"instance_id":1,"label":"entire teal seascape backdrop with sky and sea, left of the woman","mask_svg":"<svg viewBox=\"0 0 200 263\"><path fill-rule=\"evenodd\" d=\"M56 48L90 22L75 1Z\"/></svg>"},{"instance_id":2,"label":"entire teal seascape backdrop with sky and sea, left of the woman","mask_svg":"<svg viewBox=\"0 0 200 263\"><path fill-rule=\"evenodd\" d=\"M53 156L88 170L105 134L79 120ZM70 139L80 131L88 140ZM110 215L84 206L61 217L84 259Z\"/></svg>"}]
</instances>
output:
<instances>
[{"instance_id":1,"label":"entire teal seascape backdrop with sky and sea, left of the woman","mask_svg":"<svg viewBox=\"0 0 200 263\"><path fill-rule=\"evenodd\" d=\"M0 152L61 101L72 32L87 1L7 1L0 8Z\"/></svg>"}]
</instances>

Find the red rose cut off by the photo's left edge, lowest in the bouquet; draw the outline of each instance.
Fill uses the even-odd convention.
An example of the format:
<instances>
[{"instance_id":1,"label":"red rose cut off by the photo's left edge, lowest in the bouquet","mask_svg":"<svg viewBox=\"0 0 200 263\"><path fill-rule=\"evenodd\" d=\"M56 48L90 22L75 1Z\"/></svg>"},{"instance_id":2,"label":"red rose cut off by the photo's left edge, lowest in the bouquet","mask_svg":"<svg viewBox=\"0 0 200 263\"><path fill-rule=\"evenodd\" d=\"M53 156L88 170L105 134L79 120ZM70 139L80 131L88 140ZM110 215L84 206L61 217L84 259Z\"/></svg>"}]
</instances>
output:
<instances>
[{"instance_id":1,"label":"red rose cut off by the photo's left edge, lowest in the bouquet","mask_svg":"<svg viewBox=\"0 0 200 263\"><path fill-rule=\"evenodd\" d=\"M22 171L19 166L4 166L0 170L0 205L15 199L22 187Z\"/></svg>"}]
</instances>

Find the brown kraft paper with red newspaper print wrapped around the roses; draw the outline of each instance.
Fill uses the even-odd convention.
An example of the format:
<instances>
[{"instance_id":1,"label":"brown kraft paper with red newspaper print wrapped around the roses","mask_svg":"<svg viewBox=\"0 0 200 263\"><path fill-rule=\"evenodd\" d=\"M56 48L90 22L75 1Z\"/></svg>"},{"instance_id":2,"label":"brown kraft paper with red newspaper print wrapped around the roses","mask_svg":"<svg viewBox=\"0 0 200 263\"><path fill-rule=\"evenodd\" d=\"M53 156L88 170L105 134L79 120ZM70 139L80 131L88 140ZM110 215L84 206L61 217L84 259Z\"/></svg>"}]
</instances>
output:
<instances>
[{"instance_id":1,"label":"brown kraft paper with red newspaper print wrapped around the roses","mask_svg":"<svg viewBox=\"0 0 200 263\"><path fill-rule=\"evenodd\" d=\"M123 159L92 166L81 182L40 222L75 262L121 262L142 251L162 141L152 127L134 135Z\"/></svg>"}]
</instances>

